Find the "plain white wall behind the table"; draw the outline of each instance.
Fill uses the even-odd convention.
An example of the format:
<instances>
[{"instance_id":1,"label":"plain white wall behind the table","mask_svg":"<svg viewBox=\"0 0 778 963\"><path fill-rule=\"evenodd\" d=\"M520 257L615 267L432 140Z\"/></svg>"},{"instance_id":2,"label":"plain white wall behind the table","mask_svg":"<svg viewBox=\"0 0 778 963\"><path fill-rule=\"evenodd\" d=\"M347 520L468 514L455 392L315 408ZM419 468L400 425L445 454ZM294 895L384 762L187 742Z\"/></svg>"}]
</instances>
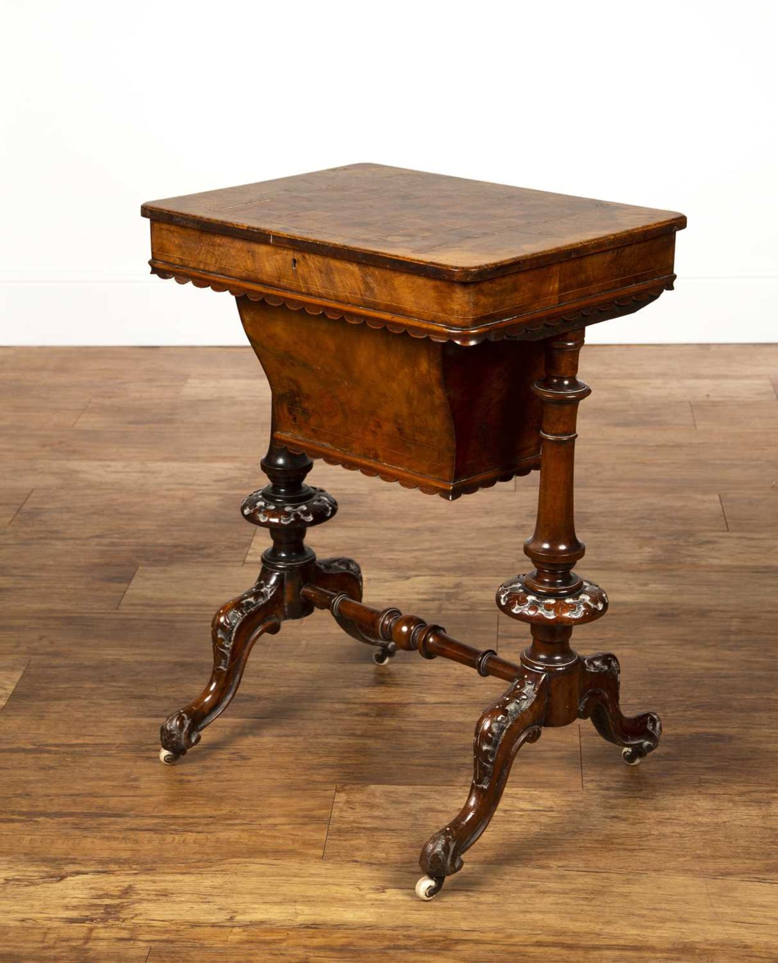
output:
<instances>
[{"instance_id":1,"label":"plain white wall behind the table","mask_svg":"<svg viewBox=\"0 0 778 963\"><path fill-rule=\"evenodd\" d=\"M778 3L0 11L0 343L243 344L141 202L366 160L683 211L676 292L589 340L778 340Z\"/></svg>"}]
</instances>

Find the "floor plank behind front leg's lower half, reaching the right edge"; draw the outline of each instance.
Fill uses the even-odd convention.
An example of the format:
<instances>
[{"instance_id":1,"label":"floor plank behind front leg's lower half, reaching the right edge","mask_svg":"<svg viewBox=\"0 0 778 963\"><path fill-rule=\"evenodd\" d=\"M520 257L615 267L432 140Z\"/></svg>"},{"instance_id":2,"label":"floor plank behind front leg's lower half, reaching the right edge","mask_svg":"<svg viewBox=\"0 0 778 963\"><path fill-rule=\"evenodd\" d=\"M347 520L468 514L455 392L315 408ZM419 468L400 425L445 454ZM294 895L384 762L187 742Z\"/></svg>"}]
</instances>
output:
<instances>
[{"instance_id":1,"label":"floor plank behind front leg's lower half, reaching the right edge","mask_svg":"<svg viewBox=\"0 0 778 963\"><path fill-rule=\"evenodd\" d=\"M640 866L661 874L672 865L674 872L778 884L778 800L768 787L722 796L678 779L672 792L658 793L650 782L639 785L636 775L618 772L608 790L558 793L522 785L524 757L523 750L478 858L476 851L464 857L470 874L488 878L505 866L625 874ZM324 860L412 865L424 834L452 819L466 793L465 787L339 785ZM416 839L408 824L419 827Z\"/></svg>"}]
</instances>

